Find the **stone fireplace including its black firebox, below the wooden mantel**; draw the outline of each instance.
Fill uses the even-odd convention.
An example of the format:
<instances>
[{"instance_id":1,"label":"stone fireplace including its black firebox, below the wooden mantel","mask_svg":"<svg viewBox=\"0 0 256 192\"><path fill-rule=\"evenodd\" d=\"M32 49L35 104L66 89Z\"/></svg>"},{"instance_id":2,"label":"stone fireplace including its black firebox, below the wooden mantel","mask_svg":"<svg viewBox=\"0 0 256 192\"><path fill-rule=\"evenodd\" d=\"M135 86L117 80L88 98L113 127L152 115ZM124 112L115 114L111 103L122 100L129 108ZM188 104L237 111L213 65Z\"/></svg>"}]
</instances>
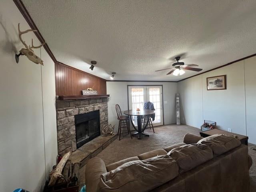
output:
<instances>
[{"instance_id":1,"label":"stone fireplace including its black firebox, below the wooden mantel","mask_svg":"<svg viewBox=\"0 0 256 192\"><path fill-rule=\"evenodd\" d=\"M74 152L108 124L107 98L56 99L58 153Z\"/></svg>"}]
</instances>

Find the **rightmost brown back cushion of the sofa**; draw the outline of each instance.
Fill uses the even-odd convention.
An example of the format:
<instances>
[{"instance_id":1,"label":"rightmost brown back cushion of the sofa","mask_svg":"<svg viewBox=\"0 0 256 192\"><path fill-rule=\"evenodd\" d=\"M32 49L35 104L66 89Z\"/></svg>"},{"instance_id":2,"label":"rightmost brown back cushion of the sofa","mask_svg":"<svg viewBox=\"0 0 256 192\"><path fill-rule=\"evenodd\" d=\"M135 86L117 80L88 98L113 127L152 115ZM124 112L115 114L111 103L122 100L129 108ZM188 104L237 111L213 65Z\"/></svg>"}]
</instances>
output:
<instances>
[{"instance_id":1,"label":"rightmost brown back cushion of the sofa","mask_svg":"<svg viewBox=\"0 0 256 192\"><path fill-rule=\"evenodd\" d=\"M233 148L240 146L240 140L232 135L215 134L199 140L197 143L208 145L214 156L223 154Z\"/></svg>"}]
</instances>

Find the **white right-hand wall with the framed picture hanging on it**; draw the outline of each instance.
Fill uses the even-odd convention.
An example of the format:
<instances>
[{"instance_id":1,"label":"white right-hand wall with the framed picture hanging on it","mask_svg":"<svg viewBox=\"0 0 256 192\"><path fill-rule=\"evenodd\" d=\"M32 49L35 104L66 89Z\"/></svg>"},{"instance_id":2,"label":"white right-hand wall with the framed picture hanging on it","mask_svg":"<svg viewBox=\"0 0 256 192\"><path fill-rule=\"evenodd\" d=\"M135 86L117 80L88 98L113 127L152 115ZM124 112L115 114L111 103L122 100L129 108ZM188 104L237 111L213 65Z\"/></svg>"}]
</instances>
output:
<instances>
[{"instance_id":1,"label":"white right-hand wall with the framed picture hanging on it","mask_svg":"<svg viewBox=\"0 0 256 192\"><path fill-rule=\"evenodd\" d=\"M178 82L182 123L200 128L203 120L217 122L222 130L249 137L256 144L256 57ZM207 90L206 78L227 76L226 90Z\"/></svg>"}]
</instances>

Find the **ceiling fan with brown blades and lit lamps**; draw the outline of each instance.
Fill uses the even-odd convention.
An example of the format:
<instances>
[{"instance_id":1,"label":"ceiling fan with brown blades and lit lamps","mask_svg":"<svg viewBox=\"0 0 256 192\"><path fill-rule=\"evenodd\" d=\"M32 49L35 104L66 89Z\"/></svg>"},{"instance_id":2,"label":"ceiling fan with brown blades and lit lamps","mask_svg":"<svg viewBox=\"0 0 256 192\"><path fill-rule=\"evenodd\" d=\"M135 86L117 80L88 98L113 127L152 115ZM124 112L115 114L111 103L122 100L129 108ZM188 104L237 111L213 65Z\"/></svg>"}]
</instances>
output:
<instances>
[{"instance_id":1,"label":"ceiling fan with brown blades and lit lamps","mask_svg":"<svg viewBox=\"0 0 256 192\"><path fill-rule=\"evenodd\" d=\"M168 74L166 74L166 75L170 75L173 73L173 75L178 76L179 74L183 75L185 73L184 70L191 70L191 71L197 71L197 72L203 70L200 68L194 68L194 66L198 66L196 64L185 65L184 62L179 62L180 56L176 57L175 60L177 62L172 64L171 68L167 68L167 69L172 69L172 70L170 72L168 72ZM157 70L157 71L162 71L162 70L167 70L167 69L161 69L161 70Z\"/></svg>"}]
</instances>

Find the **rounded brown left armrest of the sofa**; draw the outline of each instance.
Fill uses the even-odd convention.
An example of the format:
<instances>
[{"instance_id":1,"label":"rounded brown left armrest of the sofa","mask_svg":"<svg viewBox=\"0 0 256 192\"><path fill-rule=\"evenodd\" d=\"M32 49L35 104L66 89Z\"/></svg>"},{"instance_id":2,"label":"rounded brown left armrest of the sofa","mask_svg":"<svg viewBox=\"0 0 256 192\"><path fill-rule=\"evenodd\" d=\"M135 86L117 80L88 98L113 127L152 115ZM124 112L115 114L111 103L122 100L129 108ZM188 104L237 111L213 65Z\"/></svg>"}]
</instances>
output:
<instances>
[{"instance_id":1,"label":"rounded brown left armrest of the sofa","mask_svg":"<svg viewBox=\"0 0 256 192\"><path fill-rule=\"evenodd\" d=\"M100 175L106 172L105 163L101 158L94 157L88 160L85 168L86 191L96 192Z\"/></svg>"}]
</instances>

